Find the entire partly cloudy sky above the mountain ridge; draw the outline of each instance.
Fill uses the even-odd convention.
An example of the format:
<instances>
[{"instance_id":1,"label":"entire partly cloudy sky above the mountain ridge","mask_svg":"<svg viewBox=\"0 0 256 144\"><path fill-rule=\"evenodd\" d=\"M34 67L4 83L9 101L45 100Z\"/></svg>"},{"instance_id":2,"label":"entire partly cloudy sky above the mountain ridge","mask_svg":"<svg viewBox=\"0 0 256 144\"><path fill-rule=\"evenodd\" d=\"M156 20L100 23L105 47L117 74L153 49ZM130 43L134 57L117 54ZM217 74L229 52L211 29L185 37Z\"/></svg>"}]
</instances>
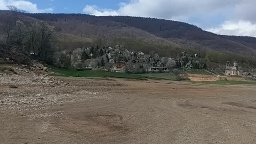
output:
<instances>
[{"instance_id":1,"label":"entire partly cloudy sky above the mountain ridge","mask_svg":"<svg viewBox=\"0 0 256 144\"><path fill-rule=\"evenodd\" d=\"M30 13L130 15L187 22L222 35L256 37L255 0L0 0Z\"/></svg>"}]
</instances>

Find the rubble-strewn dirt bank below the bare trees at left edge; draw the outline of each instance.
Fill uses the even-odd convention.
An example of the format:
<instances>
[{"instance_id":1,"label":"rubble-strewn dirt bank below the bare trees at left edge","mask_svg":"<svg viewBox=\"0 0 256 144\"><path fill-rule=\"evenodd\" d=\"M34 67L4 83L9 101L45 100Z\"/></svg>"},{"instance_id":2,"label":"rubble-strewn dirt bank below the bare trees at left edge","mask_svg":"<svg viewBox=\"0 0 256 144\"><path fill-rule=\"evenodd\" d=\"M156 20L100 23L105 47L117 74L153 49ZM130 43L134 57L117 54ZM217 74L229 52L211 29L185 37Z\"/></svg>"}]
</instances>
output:
<instances>
[{"instance_id":1,"label":"rubble-strewn dirt bank below the bare trees at left edge","mask_svg":"<svg viewBox=\"0 0 256 144\"><path fill-rule=\"evenodd\" d=\"M0 65L2 76L0 76L0 85L34 85L40 87L61 87L70 84L60 81L60 79L50 76L52 74L47 71L41 63L28 65Z\"/></svg>"}]
</instances>

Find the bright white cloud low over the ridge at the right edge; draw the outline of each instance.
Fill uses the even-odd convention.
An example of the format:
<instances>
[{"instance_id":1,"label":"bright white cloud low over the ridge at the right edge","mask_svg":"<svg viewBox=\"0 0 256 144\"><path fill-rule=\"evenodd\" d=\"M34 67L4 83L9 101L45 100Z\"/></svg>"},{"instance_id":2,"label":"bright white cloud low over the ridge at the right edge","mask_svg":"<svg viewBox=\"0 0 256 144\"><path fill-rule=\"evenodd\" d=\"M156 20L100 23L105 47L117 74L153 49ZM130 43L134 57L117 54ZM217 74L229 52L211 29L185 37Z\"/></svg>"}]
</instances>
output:
<instances>
[{"instance_id":1,"label":"bright white cloud low over the ridge at the right edge","mask_svg":"<svg viewBox=\"0 0 256 144\"><path fill-rule=\"evenodd\" d=\"M256 23L250 21L225 21L221 26L207 29L212 33L221 35L239 35L256 37Z\"/></svg>"}]
</instances>

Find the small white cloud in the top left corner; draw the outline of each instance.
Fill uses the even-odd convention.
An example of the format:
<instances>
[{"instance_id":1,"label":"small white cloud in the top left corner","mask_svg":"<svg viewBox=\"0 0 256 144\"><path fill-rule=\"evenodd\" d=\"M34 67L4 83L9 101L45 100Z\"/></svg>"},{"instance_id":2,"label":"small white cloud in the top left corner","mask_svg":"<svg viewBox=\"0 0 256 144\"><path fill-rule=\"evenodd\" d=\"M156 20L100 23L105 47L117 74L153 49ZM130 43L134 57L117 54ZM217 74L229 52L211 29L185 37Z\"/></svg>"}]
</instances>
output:
<instances>
[{"instance_id":1,"label":"small white cloud in the top left corner","mask_svg":"<svg viewBox=\"0 0 256 144\"><path fill-rule=\"evenodd\" d=\"M38 9L37 4L31 3L29 1L23 0L0 0L0 10L8 10L7 6L13 5L20 10L25 10L31 13L42 13L42 12L52 12L52 8Z\"/></svg>"}]
</instances>

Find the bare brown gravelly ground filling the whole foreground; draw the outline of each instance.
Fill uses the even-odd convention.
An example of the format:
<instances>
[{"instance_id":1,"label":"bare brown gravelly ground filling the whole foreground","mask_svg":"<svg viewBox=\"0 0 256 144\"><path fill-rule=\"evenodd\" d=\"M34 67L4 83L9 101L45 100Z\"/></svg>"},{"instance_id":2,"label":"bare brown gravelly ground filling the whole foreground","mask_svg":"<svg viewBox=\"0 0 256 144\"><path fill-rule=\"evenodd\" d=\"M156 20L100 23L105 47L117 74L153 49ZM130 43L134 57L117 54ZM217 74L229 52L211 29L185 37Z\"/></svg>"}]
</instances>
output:
<instances>
[{"instance_id":1,"label":"bare brown gravelly ground filling the whole foreground","mask_svg":"<svg viewBox=\"0 0 256 144\"><path fill-rule=\"evenodd\" d=\"M253 85L0 79L0 143L256 143Z\"/></svg>"}]
</instances>

